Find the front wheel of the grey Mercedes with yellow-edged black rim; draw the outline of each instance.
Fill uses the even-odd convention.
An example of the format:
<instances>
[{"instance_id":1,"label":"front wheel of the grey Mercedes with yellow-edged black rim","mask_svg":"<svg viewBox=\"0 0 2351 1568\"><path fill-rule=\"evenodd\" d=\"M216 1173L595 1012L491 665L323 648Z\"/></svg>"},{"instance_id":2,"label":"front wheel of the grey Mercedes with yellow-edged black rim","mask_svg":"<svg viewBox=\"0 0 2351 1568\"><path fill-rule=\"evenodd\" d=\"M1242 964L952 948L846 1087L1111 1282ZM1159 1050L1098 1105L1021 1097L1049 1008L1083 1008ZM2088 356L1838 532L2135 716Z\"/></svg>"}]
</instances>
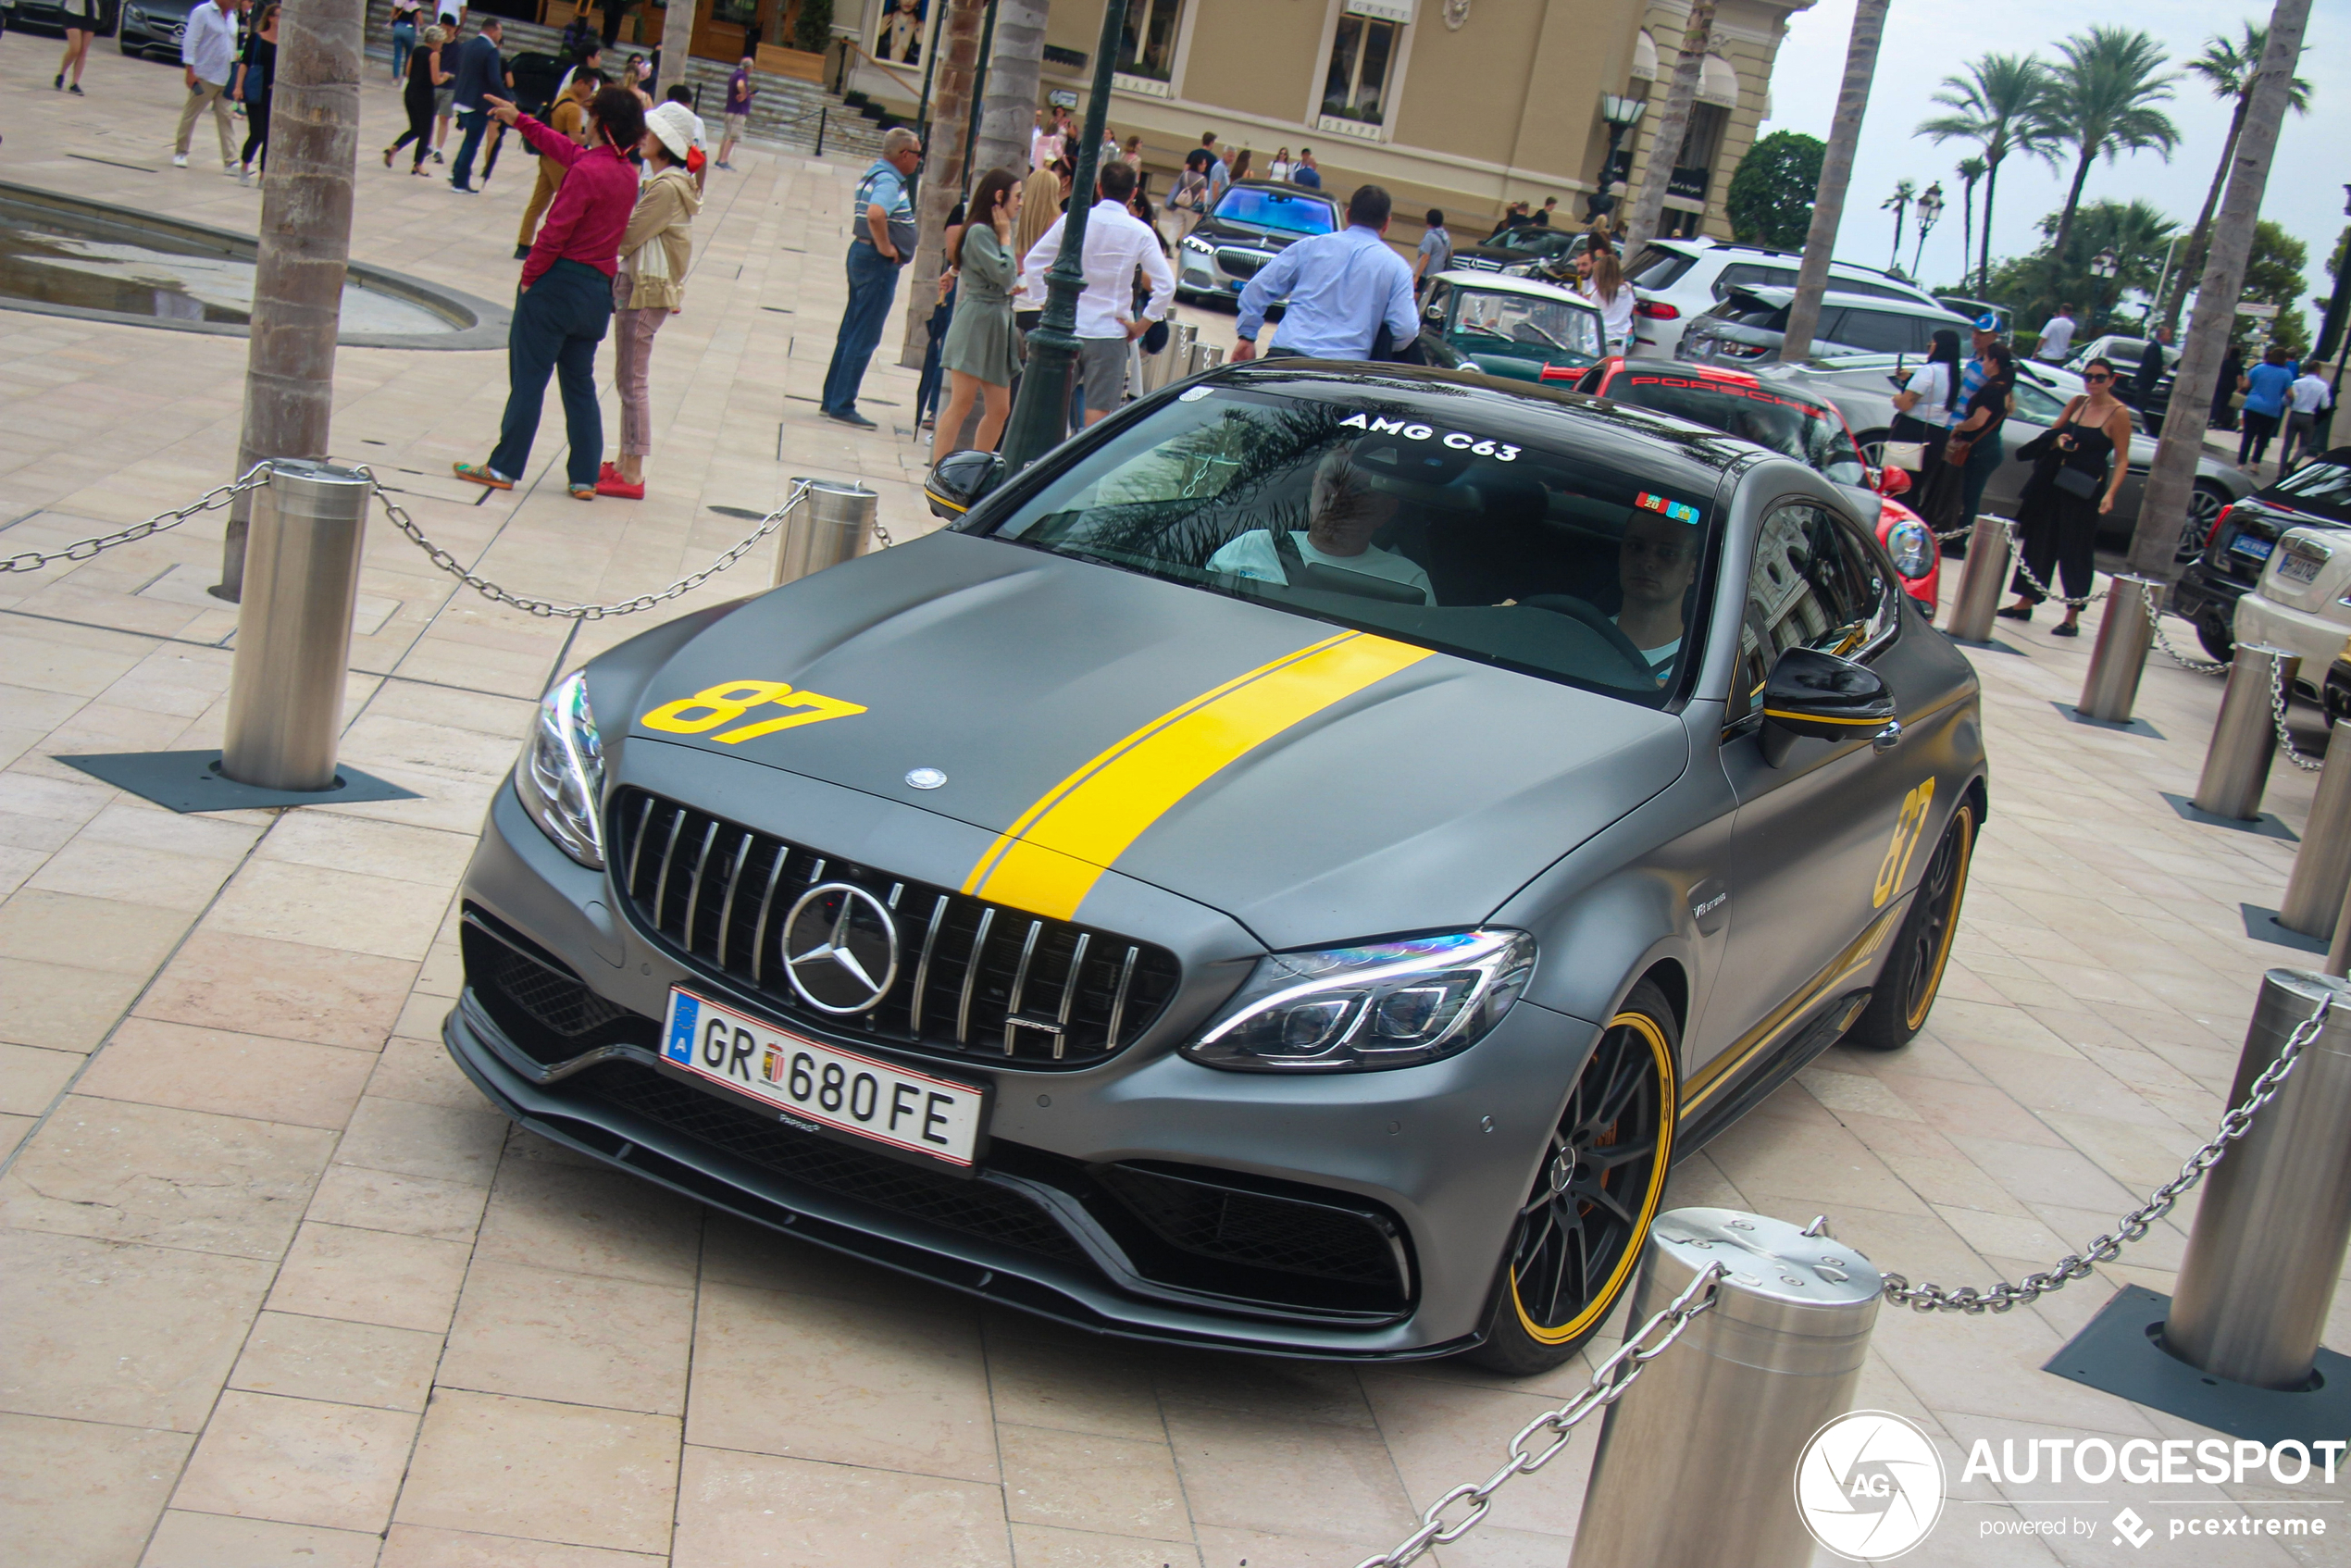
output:
<instances>
[{"instance_id":1,"label":"front wheel of the grey Mercedes with yellow-edged black rim","mask_svg":"<svg viewBox=\"0 0 2351 1568\"><path fill-rule=\"evenodd\" d=\"M1547 1373L1632 1288L1672 1168L1679 1060L1674 1009L1641 980L1568 1093L1469 1361L1507 1378Z\"/></svg>"}]
</instances>

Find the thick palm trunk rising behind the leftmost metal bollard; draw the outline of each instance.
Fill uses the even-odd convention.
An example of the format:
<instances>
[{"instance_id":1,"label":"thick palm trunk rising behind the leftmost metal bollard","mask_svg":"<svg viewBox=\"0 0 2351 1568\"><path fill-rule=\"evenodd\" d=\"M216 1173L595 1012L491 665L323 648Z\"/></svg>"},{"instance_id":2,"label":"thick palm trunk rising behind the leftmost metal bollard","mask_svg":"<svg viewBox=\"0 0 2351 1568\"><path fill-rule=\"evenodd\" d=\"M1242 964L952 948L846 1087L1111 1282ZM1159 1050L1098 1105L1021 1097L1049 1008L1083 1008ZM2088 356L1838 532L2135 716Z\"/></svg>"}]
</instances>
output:
<instances>
[{"instance_id":1,"label":"thick palm trunk rising behind the leftmost metal bollard","mask_svg":"<svg viewBox=\"0 0 2351 1568\"><path fill-rule=\"evenodd\" d=\"M360 21L348 0L287 0L277 14L268 174L254 324L245 350L245 428L237 473L261 458L324 458L334 425L334 339L350 261L353 169L360 153ZM221 541L221 585L245 592L252 494L237 496Z\"/></svg>"}]
</instances>

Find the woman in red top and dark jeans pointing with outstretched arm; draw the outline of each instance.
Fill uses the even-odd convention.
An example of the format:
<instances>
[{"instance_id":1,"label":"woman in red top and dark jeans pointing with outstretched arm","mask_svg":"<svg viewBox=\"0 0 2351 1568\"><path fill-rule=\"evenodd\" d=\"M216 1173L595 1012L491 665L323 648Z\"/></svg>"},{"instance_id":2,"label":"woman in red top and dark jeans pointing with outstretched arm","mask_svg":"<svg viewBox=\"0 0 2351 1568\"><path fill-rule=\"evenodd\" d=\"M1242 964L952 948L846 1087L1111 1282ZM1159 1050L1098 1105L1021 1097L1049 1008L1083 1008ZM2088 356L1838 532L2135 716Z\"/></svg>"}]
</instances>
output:
<instances>
[{"instance_id":1,"label":"woman in red top and dark jeans pointing with outstretched arm","mask_svg":"<svg viewBox=\"0 0 2351 1568\"><path fill-rule=\"evenodd\" d=\"M522 263L515 322L505 331L505 418L487 463L456 463L456 477L515 489L531 461L548 376L564 397L571 458L564 465L574 501L595 501L604 458L604 414L595 400L595 346L611 324L611 280L621 270L621 237L637 207L637 172L628 155L644 136L644 108L628 87L607 87L588 106L588 146L482 94L487 110L522 132L534 153L564 165L548 221L538 226Z\"/></svg>"}]
</instances>

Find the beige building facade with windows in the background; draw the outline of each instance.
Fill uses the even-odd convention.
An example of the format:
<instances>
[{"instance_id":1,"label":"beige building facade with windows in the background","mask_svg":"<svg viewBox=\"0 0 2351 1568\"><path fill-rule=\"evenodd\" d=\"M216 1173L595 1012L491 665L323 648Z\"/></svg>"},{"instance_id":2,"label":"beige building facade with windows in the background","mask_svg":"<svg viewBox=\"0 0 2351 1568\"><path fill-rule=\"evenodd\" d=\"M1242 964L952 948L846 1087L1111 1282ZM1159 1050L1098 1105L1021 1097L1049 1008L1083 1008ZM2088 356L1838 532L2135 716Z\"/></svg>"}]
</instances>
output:
<instances>
[{"instance_id":1,"label":"beige building facade with windows in the background","mask_svg":"<svg viewBox=\"0 0 2351 1568\"><path fill-rule=\"evenodd\" d=\"M1730 237L1730 172L1768 113L1787 19L1810 2L1716 7L1669 233ZM837 21L860 19L877 38L903 5L851 0ZM926 0L929 26L936 9ZM1041 92L1074 94L1079 113L1100 26L1103 0L1051 7ZM1128 0L1110 127L1121 141L1140 134L1145 167L1161 174L1201 132L1227 160L1248 148L1260 176L1277 150L1312 148L1328 190L1387 186L1399 216L1441 207L1462 237L1514 200L1559 197L1554 223L1582 223L1608 158L1603 96L1650 99L1617 162L1639 186L1686 28L1686 0ZM860 66L853 85L910 113L903 71Z\"/></svg>"}]
</instances>

